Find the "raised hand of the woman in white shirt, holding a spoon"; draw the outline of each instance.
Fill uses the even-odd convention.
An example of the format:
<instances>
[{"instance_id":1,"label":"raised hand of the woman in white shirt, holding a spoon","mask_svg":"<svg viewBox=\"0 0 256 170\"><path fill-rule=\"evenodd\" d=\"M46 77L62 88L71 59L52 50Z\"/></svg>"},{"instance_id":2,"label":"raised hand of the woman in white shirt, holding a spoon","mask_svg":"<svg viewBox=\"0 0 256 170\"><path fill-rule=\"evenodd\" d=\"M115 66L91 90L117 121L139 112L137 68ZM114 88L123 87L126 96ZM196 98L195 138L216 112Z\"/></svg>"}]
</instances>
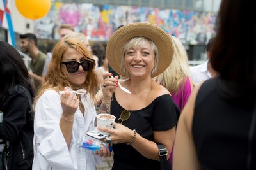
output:
<instances>
[{"instance_id":1,"label":"raised hand of the woman in white shirt, holding a spoon","mask_svg":"<svg viewBox=\"0 0 256 170\"><path fill-rule=\"evenodd\" d=\"M79 106L79 99L77 99L76 94L70 93L71 90L65 87L64 94L61 95L61 107L63 115L66 116L74 115Z\"/></svg>"}]
</instances>

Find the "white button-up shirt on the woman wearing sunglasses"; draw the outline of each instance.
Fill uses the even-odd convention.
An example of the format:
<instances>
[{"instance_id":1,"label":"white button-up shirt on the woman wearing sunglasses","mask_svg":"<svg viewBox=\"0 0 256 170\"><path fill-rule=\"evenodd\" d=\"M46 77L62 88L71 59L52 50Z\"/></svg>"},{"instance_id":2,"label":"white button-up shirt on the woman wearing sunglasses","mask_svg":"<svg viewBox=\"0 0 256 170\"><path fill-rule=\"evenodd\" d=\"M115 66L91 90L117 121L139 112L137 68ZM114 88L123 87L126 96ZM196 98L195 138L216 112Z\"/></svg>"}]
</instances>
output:
<instances>
[{"instance_id":1,"label":"white button-up shirt on the woman wearing sunglasses","mask_svg":"<svg viewBox=\"0 0 256 170\"><path fill-rule=\"evenodd\" d=\"M83 136L94 129L96 111L93 101L88 95L81 96L85 113L83 116L77 108L72 142L68 149L59 125L62 113L60 97L58 92L47 90L36 103L33 169L94 170L96 169L94 152L81 147ZM102 164L102 158L96 157L97 162Z\"/></svg>"}]
</instances>

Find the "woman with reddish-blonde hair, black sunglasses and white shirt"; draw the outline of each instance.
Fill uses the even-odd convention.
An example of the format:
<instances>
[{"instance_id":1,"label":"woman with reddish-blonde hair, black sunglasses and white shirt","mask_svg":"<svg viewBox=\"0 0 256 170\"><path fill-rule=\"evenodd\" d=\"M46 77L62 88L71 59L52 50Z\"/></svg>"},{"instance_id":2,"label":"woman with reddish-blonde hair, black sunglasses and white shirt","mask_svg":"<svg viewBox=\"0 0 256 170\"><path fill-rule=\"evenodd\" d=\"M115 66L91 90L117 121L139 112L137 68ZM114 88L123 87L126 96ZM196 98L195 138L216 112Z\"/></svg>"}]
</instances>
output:
<instances>
[{"instance_id":1,"label":"woman with reddish-blonde hair, black sunglasses and white shirt","mask_svg":"<svg viewBox=\"0 0 256 170\"><path fill-rule=\"evenodd\" d=\"M81 147L96 117L94 67L92 54L77 39L54 47L45 83L35 98L33 169L96 169L94 153ZM78 89L86 92L71 92ZM106 148L97 154L110 156Z\"/></svg>"}]
</instances>

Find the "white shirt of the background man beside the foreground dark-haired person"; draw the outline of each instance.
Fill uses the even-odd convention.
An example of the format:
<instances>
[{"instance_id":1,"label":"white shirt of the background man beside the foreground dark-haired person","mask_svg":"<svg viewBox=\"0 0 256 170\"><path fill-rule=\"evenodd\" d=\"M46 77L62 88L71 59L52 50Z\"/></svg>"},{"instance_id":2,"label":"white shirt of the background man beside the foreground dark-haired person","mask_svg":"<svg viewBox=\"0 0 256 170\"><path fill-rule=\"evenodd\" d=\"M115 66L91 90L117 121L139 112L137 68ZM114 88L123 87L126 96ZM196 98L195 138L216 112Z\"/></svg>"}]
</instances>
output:
<instances>
[{"instance_id":1,"label":"white shirt of the background man beside the foreground dark-haired person","mask_svg":"<svg viewBox=\"0 0 256 170\"><path fill-rule=\"evenodd\" d=\"M208 71L208 62L204 62L203 64L199 64L197 66L190 67L190 71L192 73L192 81L195 85L198 85L209 78L212 78L211 73Z\"/></svg>"}]
</instances>

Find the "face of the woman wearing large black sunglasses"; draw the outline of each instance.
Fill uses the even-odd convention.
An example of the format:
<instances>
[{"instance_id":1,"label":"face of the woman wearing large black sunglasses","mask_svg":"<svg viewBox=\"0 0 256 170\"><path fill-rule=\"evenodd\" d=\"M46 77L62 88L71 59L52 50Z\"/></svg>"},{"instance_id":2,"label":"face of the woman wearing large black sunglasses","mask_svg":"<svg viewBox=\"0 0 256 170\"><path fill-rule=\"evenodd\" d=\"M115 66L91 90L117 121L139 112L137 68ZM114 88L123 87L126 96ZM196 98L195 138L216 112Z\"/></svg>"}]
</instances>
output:
<instances>
[{"instance_id":1,"label":"face of the woman wearing large black sunglasses","mask_svg":"<svg viewBox=\"0 0 256 170\"><path fill-rule=\"evenodd\" d=\"M68 61L82 62L83 60L86 60L86 59L81 53L79 53L78 50L74 48L68 48L63 54L63 58L61 59L61 62L68 62ZM73 85L73 86L82 85L85 82L86 76L88 74L88 71L84 71L82 66L79 66L79 69L75 73L68 73L65 64L61 64L61 71L65 73L70 85Z\"/></svg>"}]
</instances>

